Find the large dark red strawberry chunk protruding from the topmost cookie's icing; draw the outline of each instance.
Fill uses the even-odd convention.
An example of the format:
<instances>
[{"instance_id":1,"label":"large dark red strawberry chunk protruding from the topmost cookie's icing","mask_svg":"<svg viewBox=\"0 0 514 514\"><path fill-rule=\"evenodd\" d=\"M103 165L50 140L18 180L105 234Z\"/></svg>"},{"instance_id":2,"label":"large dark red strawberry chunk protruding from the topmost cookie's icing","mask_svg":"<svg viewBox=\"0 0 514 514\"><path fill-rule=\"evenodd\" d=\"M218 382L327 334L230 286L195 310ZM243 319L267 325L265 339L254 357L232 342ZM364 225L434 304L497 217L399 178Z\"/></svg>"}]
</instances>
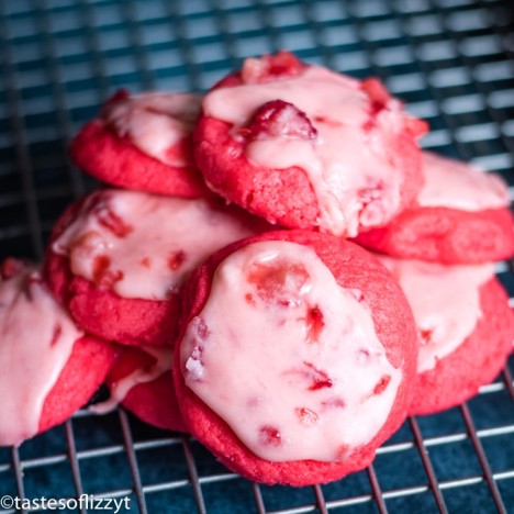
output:
<instances>
[{"instance_id":1,"label":"large dark red strawberry chunk protruding from the topmost cookie's icing","mask_svg":"<svg viewBox=\"0 0 514 514\"><path fill-rule=\"evenodd\" d=\"M283 100L271 100L262 104L250 124L239 133L250 141L277 137L313 141L317 137L317 131L308 115Z\"/></svg>"}]
</instances>

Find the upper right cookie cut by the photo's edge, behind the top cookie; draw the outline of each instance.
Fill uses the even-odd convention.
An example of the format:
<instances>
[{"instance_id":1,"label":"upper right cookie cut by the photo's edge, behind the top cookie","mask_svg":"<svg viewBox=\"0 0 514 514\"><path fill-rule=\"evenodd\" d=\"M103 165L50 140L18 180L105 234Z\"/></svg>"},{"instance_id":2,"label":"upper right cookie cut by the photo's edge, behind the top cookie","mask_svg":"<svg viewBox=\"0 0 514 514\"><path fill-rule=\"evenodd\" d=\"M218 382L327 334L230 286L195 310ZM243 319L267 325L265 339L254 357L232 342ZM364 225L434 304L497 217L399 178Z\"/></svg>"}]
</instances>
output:
<instances>
[{"instance_id":1,"label":"upper right cookie cut by the photo's edge, behind the top cookie","mask_svg":"<svg viewBox=\"0 0 514 514\"><path fill-rule=\"evenodd\" d=\"M443 264L479 264L514 256L514 223L500 177L423 153L425 183L415 206L357 243L387 255Z\"/></svg>"}]
</instances>

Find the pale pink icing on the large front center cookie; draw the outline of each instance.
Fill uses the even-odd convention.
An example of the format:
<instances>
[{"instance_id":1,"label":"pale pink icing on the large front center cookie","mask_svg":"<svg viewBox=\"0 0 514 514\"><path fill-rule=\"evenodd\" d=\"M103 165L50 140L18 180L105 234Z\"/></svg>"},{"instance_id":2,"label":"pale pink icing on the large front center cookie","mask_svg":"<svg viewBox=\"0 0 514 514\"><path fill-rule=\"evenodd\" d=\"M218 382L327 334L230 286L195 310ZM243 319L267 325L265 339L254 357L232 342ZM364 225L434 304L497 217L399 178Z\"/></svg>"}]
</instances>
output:
<instances>
[{"instance_id":1,"label":"pale pink icing on the large front center cookie","mask_svg":"<svg viewBox=\"0 0 514 514\"><path fill-rule=\"evenodd\" d=\"M384 424L402 379L361 293L288 242L219 266L180 359L187 386L272 461L347 458Z\"/></svg>"}]
</instances>

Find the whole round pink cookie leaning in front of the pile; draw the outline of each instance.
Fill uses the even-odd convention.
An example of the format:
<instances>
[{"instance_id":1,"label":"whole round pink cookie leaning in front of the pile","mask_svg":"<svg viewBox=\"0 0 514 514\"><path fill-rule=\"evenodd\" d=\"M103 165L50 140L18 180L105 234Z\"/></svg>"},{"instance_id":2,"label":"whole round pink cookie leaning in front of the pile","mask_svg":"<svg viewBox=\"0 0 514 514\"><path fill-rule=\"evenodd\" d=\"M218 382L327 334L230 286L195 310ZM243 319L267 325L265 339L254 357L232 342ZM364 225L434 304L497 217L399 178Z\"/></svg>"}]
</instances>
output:
<instances>
[{"instance_id":1,"label":"whole round pink cookie leaning in front of the pile","mask_svg":"<svg viewBox=\"0 0 514 514\"><path fill-rule=\"evenodd\" d=\"M387 269L327 234L272 232L220 250L185 290L179 406L225 466L306 485L368 466L403 422L416 332Z\"/></svg>"}]
</instances>

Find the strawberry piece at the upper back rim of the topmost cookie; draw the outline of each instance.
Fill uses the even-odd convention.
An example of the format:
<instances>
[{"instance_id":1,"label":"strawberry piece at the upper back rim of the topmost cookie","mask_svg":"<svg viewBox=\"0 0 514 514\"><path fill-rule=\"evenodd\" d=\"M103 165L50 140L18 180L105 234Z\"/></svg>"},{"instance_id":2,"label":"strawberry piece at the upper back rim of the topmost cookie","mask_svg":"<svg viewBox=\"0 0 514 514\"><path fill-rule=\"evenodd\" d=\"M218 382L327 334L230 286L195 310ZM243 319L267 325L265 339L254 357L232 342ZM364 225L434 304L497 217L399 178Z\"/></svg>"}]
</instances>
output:
<instances>
[{"instance_id":1,"label":"strawberry piece at the upper back rim of the topmost cookie","mask_svg":"<svg viewBox=\"0 0 514 514\"><path fill-rule=\"evenodd\" d=\"M243 63L241 79L243 83L262 83L271 80L299 76L306 65L289 52L276 55L247 58Z\"/></svg>"}]
</instances>

